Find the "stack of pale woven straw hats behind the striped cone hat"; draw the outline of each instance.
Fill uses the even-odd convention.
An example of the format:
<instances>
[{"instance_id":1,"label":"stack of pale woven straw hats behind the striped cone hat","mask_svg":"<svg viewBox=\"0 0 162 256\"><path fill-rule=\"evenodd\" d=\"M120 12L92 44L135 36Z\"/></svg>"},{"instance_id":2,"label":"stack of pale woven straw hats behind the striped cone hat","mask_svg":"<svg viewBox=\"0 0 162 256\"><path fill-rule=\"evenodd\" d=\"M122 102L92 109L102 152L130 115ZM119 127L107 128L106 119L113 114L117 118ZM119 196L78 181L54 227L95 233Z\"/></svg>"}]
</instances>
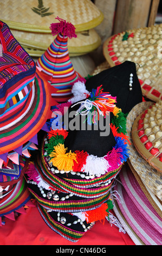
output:
<instances>
[{"instance_id":1,"label":"stack of pale woven straw hats behind the striped cone hat","mask_svg":"<svg viewBox=\"0 0 162 256\"><path fill-rule=\"evenodd\" d=\"M57 16L76 27L77 38L68 42L70 56L86 54L101 44L95 27L102 22L103 14L90 0L23 0L21 4L7 0L2 3L0 14L31 56L40 57L53 42L49 26Z\"/></svg>"}]
</instances>

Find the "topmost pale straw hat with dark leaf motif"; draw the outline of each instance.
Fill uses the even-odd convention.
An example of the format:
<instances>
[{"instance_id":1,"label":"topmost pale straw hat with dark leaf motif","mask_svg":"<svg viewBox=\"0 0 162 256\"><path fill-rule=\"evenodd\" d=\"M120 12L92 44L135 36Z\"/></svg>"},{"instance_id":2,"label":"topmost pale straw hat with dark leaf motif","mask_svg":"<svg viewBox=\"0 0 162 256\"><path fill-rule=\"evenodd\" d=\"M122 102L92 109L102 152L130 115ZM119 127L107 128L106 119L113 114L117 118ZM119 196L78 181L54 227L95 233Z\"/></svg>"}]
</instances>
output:
<instances>
[{"instance_id":1,"label":"topmost pale straw hat with dark leaf motif","mask_svg":"<svg viewBox=\"0 0 162 256\"><path fill-rule=\"evenodd\" d=\"M103 20L103 14L90 0L5 0L0 15L10 28L43 33L49 33L50 23L57 16L71 22L76 32L94 28Z\"/></svg>"}]
</instances>

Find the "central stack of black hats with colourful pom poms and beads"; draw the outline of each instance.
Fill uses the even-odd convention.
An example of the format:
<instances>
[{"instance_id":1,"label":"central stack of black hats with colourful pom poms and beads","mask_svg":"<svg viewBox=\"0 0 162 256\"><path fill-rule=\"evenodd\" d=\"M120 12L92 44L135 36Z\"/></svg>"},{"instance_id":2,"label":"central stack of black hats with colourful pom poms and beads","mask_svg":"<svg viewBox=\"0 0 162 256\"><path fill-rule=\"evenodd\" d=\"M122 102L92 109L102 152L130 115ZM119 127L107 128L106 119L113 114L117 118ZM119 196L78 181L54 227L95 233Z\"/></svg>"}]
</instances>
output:
<instances>
[{"instance_id":1,"label":"central stack of black hats with colourful pom poms and beads","mask_svg":"<svg viewBox=\"0 0 162 256\"><path fill-rule=\"evenodd\" d=\"M103 110L105 119L106 111L115 108L115 98L103 93L101 86L93 90L88 99L99 107L99 113ZM77 112L80 102L76 103L66 114ZM82 111L77 115L80 121ZM70 118L68 123L72 120ZM109 191L128 156L126 136L122 138L113 129L114 135L110 130L106 140L100 136L101 129L95 129L94 120L98 123L98 119L88 120L91 131L87 128L74 131L52 129L52 122L43 139L41 156L26 172L29 191L37 199L44 221L56 233L73 242L79 240L95 221L105 220L113 207Z\"/></svg>"}]
</instances>

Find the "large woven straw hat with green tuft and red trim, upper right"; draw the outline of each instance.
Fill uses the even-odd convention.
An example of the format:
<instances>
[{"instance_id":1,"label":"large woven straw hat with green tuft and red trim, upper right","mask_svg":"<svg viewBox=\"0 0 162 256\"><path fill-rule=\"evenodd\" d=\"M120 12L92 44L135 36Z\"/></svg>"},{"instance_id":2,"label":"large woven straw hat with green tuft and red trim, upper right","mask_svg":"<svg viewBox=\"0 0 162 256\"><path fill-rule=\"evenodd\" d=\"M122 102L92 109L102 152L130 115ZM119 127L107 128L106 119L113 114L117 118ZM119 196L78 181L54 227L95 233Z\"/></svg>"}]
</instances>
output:
<instances>
[{"instance_id":1,"label":"large woven straw hat with green tuft and red trim, upper right","mask_svg":"<svg viewBox=\"0 0 162 256\"><path fill-rule=\"evenodd\" d=\"M142 94L155 102L162 99L162 23L111 36L103 43L103 54L111 66L125 60L139 64Z\"/></svg>"}]
</instances>

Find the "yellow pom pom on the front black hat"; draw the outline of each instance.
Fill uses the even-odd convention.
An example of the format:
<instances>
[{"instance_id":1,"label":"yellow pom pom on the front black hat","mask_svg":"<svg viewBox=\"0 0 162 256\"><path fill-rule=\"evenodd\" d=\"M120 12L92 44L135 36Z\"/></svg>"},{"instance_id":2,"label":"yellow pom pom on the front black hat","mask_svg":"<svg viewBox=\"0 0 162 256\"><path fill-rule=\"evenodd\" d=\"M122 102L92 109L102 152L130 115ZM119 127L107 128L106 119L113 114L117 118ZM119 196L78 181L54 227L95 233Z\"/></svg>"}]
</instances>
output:
<instances>
[{"instance_id":1,"label":"yellow pom pom on the front black hat","mask_svg":"<svg viewBox=\"0 0 162 256\"><path fill-rule=\"evenodd\" d=\"M76 161L76 154L66 153L67 148L64 148L64 144L56 145L54 151L49 155L51 160L49 162L53 163L59 170L72 170L74 161ZM76 161L77 162L77 161Z\"/></svg>"}]
</instances>

